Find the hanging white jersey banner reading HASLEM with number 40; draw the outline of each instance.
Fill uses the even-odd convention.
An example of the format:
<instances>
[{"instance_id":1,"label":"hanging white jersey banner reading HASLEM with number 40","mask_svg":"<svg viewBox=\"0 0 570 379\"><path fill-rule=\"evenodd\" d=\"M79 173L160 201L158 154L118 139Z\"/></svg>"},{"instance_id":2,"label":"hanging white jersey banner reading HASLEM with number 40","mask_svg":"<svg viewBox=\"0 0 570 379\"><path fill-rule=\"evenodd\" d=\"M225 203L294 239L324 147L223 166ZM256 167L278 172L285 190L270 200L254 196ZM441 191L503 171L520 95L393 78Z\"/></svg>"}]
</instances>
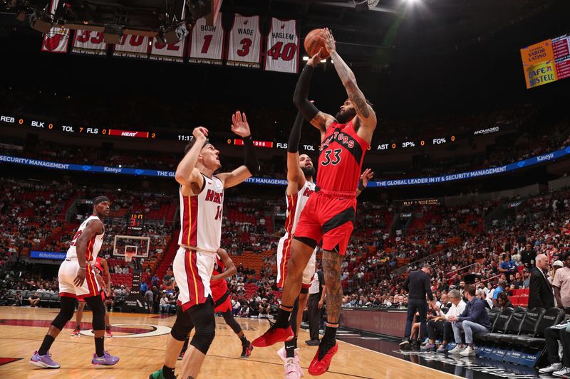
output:
<instances>
[{"instance_id":1,"label":"hanging white jersey banner reading HASLEM with number 40","mask_svg":"<svg viewBox=\"0 0 570 379\"><path fill-rule=\"evenodd\" d=\"M299 72L299 36L295 20L271 18L265 53L265 70L294 74Z\"/></svg>"}]
</instances>

